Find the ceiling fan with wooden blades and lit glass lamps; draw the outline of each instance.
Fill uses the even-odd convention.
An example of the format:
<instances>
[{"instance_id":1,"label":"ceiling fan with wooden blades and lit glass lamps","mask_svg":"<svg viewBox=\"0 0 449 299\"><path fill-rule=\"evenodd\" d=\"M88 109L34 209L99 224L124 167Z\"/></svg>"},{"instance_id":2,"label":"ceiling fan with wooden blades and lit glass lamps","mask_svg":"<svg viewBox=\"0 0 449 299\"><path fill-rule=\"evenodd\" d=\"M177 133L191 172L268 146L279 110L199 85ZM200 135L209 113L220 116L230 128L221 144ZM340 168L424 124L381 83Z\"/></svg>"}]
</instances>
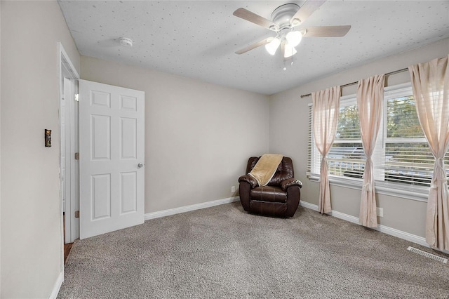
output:
<instances>
[{"instance_id":1,"label":"ceiling fan with wooden blades and lit glass lamps","mask_svg":"<svg viewBox=\"0 0 449 299\"><path fill-rule=\"evenodd\" d=\"M263 39L255 44L236 51L243 54L260 46L265 46L267 52L274 55L281 46L284 58L289 58L297 53L295 46L300 44L302 37L341 37L347 34L351 26L321 26L298 27L314 13L326 0L308 0L301 7L297 4L284 4L276 8L272 13L272 20L267 20L245 8L234 11L236 17L242 18L276 32L276 36ZM297 28L298 27L298 28Z\"/></svg>"}]
</instances>

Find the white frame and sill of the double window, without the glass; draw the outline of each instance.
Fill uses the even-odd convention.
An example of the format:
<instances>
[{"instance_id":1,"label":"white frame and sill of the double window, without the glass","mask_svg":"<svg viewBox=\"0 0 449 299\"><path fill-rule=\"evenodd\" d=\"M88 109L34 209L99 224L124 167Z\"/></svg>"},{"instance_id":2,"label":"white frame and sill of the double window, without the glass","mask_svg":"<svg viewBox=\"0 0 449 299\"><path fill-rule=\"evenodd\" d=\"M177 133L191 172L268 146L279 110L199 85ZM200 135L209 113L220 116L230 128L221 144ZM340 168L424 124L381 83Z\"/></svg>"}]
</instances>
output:
<instances>
[{"instance_id":1,"label":"white frame and sill of the double window, without the glass","mask_svg":"<svg viewBox=\"0 0 449 299\"><path fill-rule=\"evenodd\" d=\"M380 143L380 146L384 148L382 145L386 144L386 142L392 142L394 140L403 141L401 138L387 138L387 126L384 126L385 120L387 117L387 98L392 98L395 95L401 94L404 91L408 91L411 88L411 83L408 82L406 84L398 84L395 86L388 86L384 88L384 102L383 112L382 112L382 123L380 124L379 135L377 137L376 143ZM356 100L356 94L345 95L340 98L340 107L342 107L342 102L346 106L348 102L354 103ZM351 104L349 104L351 105ZM309 153L308 153L308 167L307 167L307 178L313 182L318 182L320 179L319 175L319 161L321 161L321 155L318 150L316 150L316 146L314 143L313 136L313 117L311 113L312 104L309 103ZM410 138L411 139L411 138ZM408 140L410 140L408 138ZM414 138L416 142L427 142L426 138ZM337 142L343 143L351 141L349 139L337 140ZM352 140L357 141L357 140ZM377 145L376 145L377 146ZM385 152L383 151L385 154ZM316 165L318 162L318 165ZM383 163L383 161L382 161ZM314 173L313 169L318 169L318 173ZM409 185L409 184L401 184L398 182L388 182L384 180L378 180L380 175L383 175L384 169L375 169L375 190L378 194L386 194L392 197L401 197L406 199L413 199L417 201L427 201L429 195L429 187L420 186L420 185ZM351 189L361 190L363 180L360 178L349 178L340 175L328 175L329 182L331 185L339 186L339 187L347 187Z\"/></svg>"}]
</instances>

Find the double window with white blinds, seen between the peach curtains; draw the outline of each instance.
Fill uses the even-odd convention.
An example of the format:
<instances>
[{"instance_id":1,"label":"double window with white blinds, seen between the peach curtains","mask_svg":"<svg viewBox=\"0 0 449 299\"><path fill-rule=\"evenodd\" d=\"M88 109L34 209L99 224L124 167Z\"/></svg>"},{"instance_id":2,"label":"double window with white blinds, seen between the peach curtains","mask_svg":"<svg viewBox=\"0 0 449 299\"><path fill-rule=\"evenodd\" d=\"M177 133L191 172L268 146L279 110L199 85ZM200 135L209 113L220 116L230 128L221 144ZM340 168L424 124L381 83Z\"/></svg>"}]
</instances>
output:
<instances>
[{"instance_id":1,"label":"double window with white blinds, seen between the peach curtains","mask_svg":"<svg viewBox=\"0 0 449 299\"><path fill-rule=\"evenodd\" d=\"M310 105L308 175L316 178L321 155L315 147L311 109ZM337 132L327 158L331 182L361 181L366 157L361 142L356 95L340 98ZM373 164L377 187L392 190L417 187L422 194L427 194L434 156L418 121L410 84L385 88L383 117Z\"/></svg>"}]
</instances>

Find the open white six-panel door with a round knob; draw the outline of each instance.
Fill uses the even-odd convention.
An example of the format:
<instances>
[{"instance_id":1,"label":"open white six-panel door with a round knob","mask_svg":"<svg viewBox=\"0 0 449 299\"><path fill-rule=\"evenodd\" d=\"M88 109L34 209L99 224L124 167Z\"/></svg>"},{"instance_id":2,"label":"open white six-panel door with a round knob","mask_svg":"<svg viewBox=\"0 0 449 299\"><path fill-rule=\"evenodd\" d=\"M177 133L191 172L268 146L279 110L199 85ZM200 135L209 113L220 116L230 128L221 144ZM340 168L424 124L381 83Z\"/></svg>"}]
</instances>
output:
<instances>
[{"instance_id":1,"label":"open white six-panel door with a round knob","mask_svg":"<svg viewBox=\"0 0 449 299\"><path fill-rule=\"evenodd\" d=\"M144 222L145 93L79 81L80 239Z\"/></svg>"}]
</instances>

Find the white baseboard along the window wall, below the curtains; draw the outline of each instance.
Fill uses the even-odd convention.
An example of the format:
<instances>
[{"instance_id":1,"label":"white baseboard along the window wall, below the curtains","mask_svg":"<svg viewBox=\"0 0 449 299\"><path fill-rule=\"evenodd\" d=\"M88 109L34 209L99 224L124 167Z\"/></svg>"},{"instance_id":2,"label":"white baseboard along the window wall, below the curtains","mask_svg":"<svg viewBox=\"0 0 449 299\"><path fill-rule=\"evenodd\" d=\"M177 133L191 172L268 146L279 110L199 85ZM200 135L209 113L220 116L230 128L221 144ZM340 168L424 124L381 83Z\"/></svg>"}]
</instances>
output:
<instances>
[{"instance_id":1,"label":"white baseboard along the window wall, below the curtains","mask_svg":"<svg viewBox=\"0 0 449 299\"><path fill-rule=\"evenodd\" d=\"M310 204L306 201L300 201L300 206L303 206L304 208L309 208L314 211L319 211L319 206L316 206L316 204ZM341 213L338 211L332 211L329 213L329 215L331 215L335 218L340 218L342 220L346 220L349 222L356 223L357 225L360 225L357 217L354 217L354 216L351 216L348 214L344 214L344 213ZM415 234L410 234L408 232L396 230L395 228L387 227L385 225L377 225L377 227L374 227L373 230L377 230L379 232L383 232L384 234L389 234L391 236L398 237L398 238L413 242L415 244L419 244L419 245L431 248L431 246L429 246L429 244L427 244L426 239L424 237L420 237ZM434 248L434 249L439 250L437 248ZM445 252L445 251L443 251L443 252Z\"/></svg>"}]
</instances>

